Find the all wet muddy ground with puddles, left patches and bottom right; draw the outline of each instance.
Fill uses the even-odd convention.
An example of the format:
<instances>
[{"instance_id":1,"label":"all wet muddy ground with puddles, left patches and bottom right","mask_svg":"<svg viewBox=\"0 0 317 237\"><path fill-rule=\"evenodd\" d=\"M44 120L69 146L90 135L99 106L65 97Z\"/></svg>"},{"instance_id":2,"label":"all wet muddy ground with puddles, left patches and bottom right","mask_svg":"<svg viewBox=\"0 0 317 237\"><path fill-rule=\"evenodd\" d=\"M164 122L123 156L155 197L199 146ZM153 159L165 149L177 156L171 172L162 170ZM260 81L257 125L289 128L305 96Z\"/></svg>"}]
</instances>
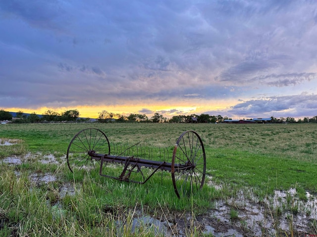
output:
<instances>
[{"instance_id":1,"label":"all wet muddy ground with puddles, left patches and bottom right","mask_svg":"<svg viewBox=\"0 0 317 237\"><path fill-rule=\"evenodd\" d=\"M4 143L2 143L4 144ZM9 145L9 144L6 144ZM60 164L53 155L27 154L23 158L8 157L0 160L8 165L19 165L34 156L44 164ZM19 173L16 172L19 176ZM29 179L36 185L58 181L52 173L33 173ZM209 183L208 185L212 185ZM221 191L221 186L216 186ZM76 195L73 184L64 183L59 189L59 198ZM299 200L296 189L276 190L273 197L260 201L248 191L241 191L237 197L215 200L214 208L205 214L192 217L191 213L174 212L166 216L163 212L151 213L149 207L133 210L132 232L137 228L151 228L163 236L185 237L198 233L215 237L245 236L314 236L317 235L317 197L307 193L307 201ZM248 198L246 198L248 197ZM63 212L59 202L52 203L57 213ZM150 210L150 211L149 211ZM125 222L117 223L118 233Z\"/></svg>"}]
</instances>

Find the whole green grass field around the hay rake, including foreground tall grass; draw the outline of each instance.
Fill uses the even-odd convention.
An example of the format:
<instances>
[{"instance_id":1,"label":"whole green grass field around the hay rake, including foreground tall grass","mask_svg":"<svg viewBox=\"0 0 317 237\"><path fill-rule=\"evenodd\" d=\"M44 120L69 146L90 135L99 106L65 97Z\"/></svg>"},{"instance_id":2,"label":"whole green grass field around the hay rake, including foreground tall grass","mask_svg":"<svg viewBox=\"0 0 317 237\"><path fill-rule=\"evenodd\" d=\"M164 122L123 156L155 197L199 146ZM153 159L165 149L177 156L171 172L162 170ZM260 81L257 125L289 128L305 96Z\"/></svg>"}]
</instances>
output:
<instances>
[{"instance_id":1,"label":"whole green grass field around the hay rake, including foreground tall grass","mask_svg":"<svg viewBox=\"0 0 317 237\"><path fill-rule=\"evenodd\" d=\"M71 173L65 163L69 142L78 131L90 127L105 132L110 145L141 142L151 151L158 147L172 151L183 131L196 131L207 158L203 190L178 199L168 172L158 172L144 185L101 177L97 172L84 177ZM6 220L0 223L0 235L12 233L12 226L15 234L29 236L39 231L44 236L50 236L50 231L55 236L101 236L105 230L114 235L116 215L109 218L114 212L138 206L151 207L151 212L199 215L212 207L213 200L235 197L241 189L252 190L261 199L274 190L296 188L299 198L305 199L306 191L317 193L316 128L317 124L1 124L2 143L10 139L15 144L0 146L0 215L2 210ZM26 155L17 165L1 162ZM47 155L59 163L41 162ZM51 173L57 179L34 185L29 179L34 173ZM60 197L58 190L65 183L74 184L76 195ZM216 190L214 185L222 188ZM47 203L57 202L62 209L56 217L56 208ZM43 216L46 221L39 221ZM21 225L25 218L28 221Z\"/></svg>"}]
</instances>

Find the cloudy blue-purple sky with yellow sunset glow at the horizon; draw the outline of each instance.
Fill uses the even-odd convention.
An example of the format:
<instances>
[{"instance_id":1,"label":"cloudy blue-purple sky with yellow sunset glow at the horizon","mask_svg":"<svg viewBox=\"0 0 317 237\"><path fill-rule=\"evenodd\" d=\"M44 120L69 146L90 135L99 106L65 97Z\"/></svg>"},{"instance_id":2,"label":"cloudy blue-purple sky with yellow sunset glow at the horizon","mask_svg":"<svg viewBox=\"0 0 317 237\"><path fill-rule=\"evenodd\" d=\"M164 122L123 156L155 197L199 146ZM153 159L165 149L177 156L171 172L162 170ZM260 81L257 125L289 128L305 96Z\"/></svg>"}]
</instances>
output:
<instances>
[{"instance_id":1,"label":"cloudy blue-purple sky with yellow sunset glow at the horizon","mask_svg":"<svg viewBox=\"0 0 317 237\"><path fill-rule=\"evenodd\" d=\"M316 0L0 0L0 109L317 116Z\"/></svg>"}]
</instances>

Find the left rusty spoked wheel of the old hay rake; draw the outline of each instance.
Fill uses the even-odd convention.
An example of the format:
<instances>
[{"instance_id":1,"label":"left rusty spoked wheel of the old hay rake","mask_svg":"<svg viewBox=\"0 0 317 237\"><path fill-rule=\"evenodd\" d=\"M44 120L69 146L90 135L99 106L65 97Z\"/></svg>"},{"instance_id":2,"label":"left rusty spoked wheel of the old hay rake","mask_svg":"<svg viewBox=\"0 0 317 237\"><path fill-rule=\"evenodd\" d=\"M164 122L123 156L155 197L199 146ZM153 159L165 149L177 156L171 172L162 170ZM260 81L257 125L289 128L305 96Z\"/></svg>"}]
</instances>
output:
<instances>
[{"instance_id":1,"label":"left rusty spoked wheel of the old hay rake","mask_svg":"<svg viewBox=\"0 0 317 237\"><path fill-rule=\"evenodd\" d=\"M90 173L100 168L101 161L91 158L89 154L110 154L109 140L106 134L96 128L87 128L78 132L67 149L67 164L72 173Z\"/></svg>"}]
</instances>

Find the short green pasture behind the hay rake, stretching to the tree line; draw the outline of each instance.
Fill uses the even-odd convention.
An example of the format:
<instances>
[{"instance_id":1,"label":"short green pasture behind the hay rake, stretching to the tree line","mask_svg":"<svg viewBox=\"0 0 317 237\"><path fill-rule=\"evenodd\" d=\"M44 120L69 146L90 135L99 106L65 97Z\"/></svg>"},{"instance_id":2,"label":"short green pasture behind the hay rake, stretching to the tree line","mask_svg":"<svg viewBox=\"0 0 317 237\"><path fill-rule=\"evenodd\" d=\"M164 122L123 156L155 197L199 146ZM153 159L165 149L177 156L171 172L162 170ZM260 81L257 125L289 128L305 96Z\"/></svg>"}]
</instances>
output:
<instances>
[{"instance_id":1,"label":"short green pasture behind the hay rake, stretching to the tree line","mask_svg":"<svg viewBox=\"0 0 317 237\"><path fill-rule=\"evenodd\" d=\"M185 130L197 131L204 143L207 173L222 184L265 190L317 192L317 124L5 124L0 138L20 139L18 152L53 154L62 158L81 129L105 132L111 144L173 147ZM3 147L0 158L10 156ZM19 154L17 154L19 155Z\"/></svg>"}]
</instances>

